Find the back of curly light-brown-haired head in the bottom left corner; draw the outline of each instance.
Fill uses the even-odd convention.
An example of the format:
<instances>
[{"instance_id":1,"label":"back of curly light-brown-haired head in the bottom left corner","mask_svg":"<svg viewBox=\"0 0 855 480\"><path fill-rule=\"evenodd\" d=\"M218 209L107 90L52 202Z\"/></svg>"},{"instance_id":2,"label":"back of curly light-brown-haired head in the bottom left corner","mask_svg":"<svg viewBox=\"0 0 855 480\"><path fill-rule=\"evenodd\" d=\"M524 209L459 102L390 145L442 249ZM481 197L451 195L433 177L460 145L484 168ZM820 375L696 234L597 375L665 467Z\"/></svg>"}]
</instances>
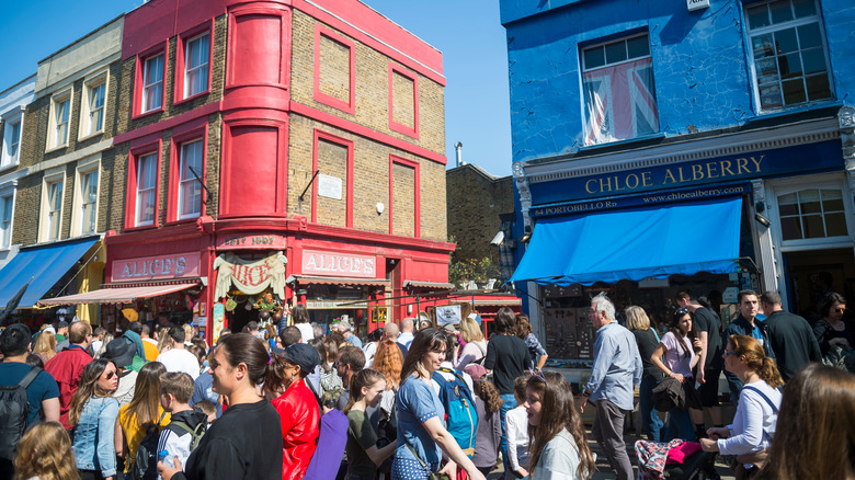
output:
<instances>
[{"instance_id":1,"label":"back of curly light-brown-haired head in the bottom left corner","mask_svg":"<svg viewBox=\"0 0 855 480\"><path fill-rule=\"evenodd\" d=\"M78 480L71 438L59 422L36 423L18 443L15 480Z\"/></svg>"}]
</instances>

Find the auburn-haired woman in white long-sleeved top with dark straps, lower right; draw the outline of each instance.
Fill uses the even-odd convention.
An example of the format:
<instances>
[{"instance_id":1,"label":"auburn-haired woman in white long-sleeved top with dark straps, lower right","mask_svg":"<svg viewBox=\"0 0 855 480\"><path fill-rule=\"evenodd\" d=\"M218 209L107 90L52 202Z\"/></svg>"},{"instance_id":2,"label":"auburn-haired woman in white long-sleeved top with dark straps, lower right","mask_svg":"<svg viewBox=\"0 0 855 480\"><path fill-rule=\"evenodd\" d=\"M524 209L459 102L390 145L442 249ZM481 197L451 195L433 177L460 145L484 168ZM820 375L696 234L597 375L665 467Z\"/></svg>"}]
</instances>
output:
<instances>
[{"instance_id":1,"label":"auburn-haired woman in white long-sleeved top with dark straps, lower right","mask_svg":"<svg viewBox=\"0 0 855 480\"><path fill-rule=\"evenodd\" d=\"M725 368L742 380L737 413L729 427L713 427L702 438L705 452L737 456L737 479L751 478L766 459L766 448L775 434L775 424L784 385L760 342L751 336L730 335L725 350Z\"/></svg>"}]
</instances>

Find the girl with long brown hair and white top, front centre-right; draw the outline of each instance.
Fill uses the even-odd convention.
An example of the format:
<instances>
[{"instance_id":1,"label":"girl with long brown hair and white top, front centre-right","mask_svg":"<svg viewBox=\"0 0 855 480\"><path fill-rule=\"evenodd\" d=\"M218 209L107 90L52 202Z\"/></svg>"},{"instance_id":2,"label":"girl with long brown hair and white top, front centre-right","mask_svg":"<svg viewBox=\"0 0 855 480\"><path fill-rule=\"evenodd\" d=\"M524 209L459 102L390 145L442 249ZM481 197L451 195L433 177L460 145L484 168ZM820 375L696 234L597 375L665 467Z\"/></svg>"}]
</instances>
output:
<instances>
[{"instance_id":1,"label":"girl with long brown hair and white top, front centre-right","mask_svg":"<svg viewBox=\"0 0 855 480\"><path fill-rule=\"evenodd\" d=\"M532 438L533 479L581 480L596 465L585 428L565 376L544 372L528 378L525 388L528 437Z\"/></svg>"}]
</instances>

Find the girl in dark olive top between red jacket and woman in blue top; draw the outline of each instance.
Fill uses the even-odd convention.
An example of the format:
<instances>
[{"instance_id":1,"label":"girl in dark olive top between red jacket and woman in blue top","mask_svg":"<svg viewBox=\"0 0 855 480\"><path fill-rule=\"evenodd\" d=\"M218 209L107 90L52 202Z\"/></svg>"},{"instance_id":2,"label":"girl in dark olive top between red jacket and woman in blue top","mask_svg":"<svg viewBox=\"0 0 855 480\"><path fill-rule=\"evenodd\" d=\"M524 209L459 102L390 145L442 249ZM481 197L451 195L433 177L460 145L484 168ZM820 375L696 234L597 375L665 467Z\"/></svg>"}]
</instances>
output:
<instances>
[{"instance_id":1,"label":"girl in dark olive top between red jacket and woman in blue top","mask_svg":"<svg viewBox=\"0 0 855 480\"><path fill-rule=\"evenodd\" d=\"M349 480L374 480L377 468L395 453L396 445L377 447L377 432L372 426L365 410L377 408L386 378L381 373L366 368L351 380L351 397L343 412L347 415L347 478Z\"/></svg>"}]
</instances>

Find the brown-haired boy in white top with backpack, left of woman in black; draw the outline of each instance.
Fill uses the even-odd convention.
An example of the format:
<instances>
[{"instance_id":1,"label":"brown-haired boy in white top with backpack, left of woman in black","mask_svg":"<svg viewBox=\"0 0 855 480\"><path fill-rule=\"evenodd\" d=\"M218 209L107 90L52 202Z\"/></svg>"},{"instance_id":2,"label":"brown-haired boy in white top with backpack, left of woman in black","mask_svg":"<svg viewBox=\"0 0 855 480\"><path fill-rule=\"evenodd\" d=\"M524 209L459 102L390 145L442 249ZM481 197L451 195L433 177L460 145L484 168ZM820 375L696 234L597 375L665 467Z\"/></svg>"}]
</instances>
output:
<instances>
[{"instance_id":1,"label":"brown-haired boy in white top with backpack, left of woman in black","mask_svg":"<svg viewBox=\"0 0 855 480\"><path fill-rule=\"evenodd\" d=\"M158 452L166 450L167 458L178 458L182 469L193 447L198 444L198 438L207 430L209 416L193 410L187 404L191 396L193 396L193 378L190 375L183 372L170 372L160 377L160 404L163 410L172 414L172 421L160 432ZM216 416L216 409L214 414Z\"/></svg>"}]
</instances>

